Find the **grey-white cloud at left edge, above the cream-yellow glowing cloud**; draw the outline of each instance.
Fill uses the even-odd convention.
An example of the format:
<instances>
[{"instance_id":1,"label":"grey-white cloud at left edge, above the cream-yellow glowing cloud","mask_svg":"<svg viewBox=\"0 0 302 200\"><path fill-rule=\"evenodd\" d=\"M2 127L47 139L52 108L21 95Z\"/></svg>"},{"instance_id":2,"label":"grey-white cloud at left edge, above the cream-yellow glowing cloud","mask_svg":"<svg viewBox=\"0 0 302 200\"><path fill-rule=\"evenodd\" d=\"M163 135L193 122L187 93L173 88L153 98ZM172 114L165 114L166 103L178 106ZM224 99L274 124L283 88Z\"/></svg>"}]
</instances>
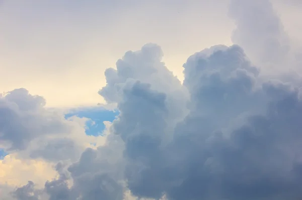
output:
<instances>
[{"instance_id":1,"label":"grey-white cloud at left edge, above the cream-yellow glowing cloud","mask_svg":"<svg viewBox=\"0 0 302 200\"><path fill-rule=\"evenodd\" d=\"M63 113L45 108L45 103L43 97L24 88L2 95L0 145L9 153L21 151L19 156L53 162L77 160L85 148L77 139L81 136L74 134L81 134L83 129L85 136L84 128L77 121L66 120Z\"/></svg>"}]
</instances>

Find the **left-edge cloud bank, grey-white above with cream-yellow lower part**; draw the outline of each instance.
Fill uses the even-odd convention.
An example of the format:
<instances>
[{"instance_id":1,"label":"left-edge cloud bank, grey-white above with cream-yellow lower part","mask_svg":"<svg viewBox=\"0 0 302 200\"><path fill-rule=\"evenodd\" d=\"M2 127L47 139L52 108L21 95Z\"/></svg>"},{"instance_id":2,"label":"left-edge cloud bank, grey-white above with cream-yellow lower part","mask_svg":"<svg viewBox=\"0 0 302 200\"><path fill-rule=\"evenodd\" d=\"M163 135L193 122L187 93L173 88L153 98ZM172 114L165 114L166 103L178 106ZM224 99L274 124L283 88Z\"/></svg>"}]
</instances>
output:
<instances>
[{"instance_id":1,"label":"left-edge cloud bank, grey-white above with cream-yellow lower part","mask_svg":"<svg viewBox=\"0 0 302 200\"><path fill-rule=\"evenodd\" d=\"M102 145L104 139L85 134L87 120L45 108L44 98L23 88L2 94L0 184L13 190L30 180L41 188L56 177L57 162L75 162L87 147Z\"/></svg>"}]
</instances>

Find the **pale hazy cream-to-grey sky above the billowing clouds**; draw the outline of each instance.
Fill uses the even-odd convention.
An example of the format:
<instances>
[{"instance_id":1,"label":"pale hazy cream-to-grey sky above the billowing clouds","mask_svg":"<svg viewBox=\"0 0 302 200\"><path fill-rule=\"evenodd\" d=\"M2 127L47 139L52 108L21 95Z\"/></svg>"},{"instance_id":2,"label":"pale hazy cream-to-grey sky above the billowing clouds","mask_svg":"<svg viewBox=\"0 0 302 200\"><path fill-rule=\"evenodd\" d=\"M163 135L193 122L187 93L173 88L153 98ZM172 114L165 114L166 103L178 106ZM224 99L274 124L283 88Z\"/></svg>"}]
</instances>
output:
<instances>
[{"instance_id":1,"label":"pale hazy cream-to-grey sky above the billowing clouds","mask_svg":"<svg viewBox=\"0 0 302 200\"><path fill-rule=\"evenodd\" d=\"M294 2L294 1L292 1ZM278 3L278 2L277 2ZM179 79L187 57L232 44L228 0L2 1L0 91L25 87L47 106L93 105L104 70L127 50L160 44ZM298 9L275 4L286 28L301 33Z\"/></svg>"}]
</instances>

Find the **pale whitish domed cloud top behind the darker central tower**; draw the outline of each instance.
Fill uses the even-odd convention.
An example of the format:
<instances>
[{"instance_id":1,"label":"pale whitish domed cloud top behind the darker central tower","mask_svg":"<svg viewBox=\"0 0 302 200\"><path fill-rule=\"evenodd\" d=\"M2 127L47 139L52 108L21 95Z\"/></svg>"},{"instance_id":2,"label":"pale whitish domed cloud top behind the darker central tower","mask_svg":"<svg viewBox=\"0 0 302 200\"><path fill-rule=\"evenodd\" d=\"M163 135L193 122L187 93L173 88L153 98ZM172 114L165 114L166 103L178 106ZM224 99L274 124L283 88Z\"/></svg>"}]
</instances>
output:
<instances>
[{"instance_id":1,"label":"pale whitish domed cloud top behind the darker central tower","mask_svg":"<svg viewBox=\"0 0 302 200\"><path fill-rule=\"evenodd\" d=\"M188 93L177 77L167 69L162 58L161 47L151 43L144 45L139 51L127 51L123 58L116 62L116 70L109 68L105 71L107 85L99 91L99 94L108 103L117 103L120 110L119 106L122 106L125 100L124 92L131 93L132 86L138 91L140 87L150 88L165 93L169 111L174 113L174 120L181 119L186 112Z\"/></svg>"}]
</instances>

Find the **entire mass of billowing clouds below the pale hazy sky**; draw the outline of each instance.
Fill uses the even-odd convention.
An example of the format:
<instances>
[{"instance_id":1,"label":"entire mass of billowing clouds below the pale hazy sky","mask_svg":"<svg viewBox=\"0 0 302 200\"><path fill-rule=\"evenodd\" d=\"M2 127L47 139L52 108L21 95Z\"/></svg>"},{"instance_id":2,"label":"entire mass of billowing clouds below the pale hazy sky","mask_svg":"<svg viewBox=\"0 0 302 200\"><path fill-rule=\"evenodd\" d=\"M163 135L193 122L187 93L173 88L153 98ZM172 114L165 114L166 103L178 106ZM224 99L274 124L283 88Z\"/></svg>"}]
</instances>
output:
<instances>
[{"instance_id":1,"label":"entire mass of billowing clouds below the pale hazy sky","mask_svg":"<svg viewBox=\"0 0 302 200\"><path fill-rule=\"evenodd\" d=\"M301 198L300 52L268 0L229 16L234 45L189 56L183 83L159 45L125 52L98 92L119 113L100 135L26 89L1 96L0 199Z\"/></svg>"}]
</instances>

